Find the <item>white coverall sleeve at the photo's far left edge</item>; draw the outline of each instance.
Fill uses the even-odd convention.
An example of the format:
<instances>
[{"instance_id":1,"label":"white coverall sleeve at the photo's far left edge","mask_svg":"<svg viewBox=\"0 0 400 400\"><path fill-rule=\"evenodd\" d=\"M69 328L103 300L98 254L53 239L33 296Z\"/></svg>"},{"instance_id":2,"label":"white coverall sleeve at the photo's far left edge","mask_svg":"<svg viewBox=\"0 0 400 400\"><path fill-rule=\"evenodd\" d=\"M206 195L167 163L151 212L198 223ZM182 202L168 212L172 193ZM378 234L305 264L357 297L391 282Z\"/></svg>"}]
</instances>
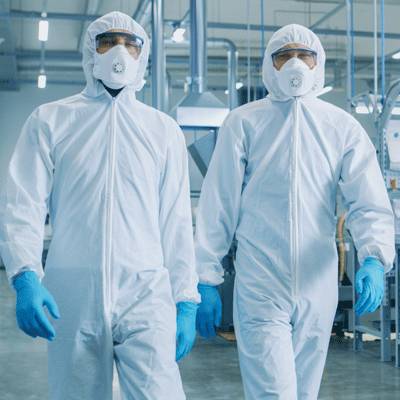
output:
<instances>
[{"instance_id":1,"label":"white coverall sleeve at the photo's far left edge","mask_svg":"<svg viewBox=\"0 0 400 400\"><path fill-rule=\"evenodd\" d=\"M25 269L44 275L44 225L54 168L46 135L35 110L22 128L1 190L0 253L10 283Z\"/></svg>"}]
</instances>

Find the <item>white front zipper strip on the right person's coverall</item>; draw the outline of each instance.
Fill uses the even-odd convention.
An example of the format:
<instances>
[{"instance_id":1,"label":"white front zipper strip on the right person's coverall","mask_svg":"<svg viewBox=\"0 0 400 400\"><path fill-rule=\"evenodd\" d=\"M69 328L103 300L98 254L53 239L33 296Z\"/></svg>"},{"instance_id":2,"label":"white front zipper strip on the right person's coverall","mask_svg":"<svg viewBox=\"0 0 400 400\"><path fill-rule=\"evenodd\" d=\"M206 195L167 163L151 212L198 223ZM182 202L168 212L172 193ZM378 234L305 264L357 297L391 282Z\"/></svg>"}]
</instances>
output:
<instances>
[{"instance_id":1,"label":"white front zipper strip on the right person's coverall","mask_svg":"<svg viewBox=\"0 0 400 400\"><path fill-rule=\"evenodd\" d=\"M294 127L292 142L292 165L291 165L291 264L292 264L292 294L297 297L298 294L298 209L297 209L297 193L298 193L298 137L299 137L299 103L298 99L294 100Z\"/></svg>"}]
</instances>

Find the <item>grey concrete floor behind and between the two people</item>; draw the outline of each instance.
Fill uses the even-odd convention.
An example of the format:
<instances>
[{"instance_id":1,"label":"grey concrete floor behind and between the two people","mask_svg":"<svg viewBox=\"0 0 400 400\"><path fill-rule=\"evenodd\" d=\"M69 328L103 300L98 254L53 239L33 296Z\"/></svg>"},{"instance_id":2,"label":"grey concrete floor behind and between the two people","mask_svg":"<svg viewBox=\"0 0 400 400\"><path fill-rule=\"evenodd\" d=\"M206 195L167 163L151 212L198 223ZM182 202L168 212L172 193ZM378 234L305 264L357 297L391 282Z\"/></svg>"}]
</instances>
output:
<instances>
[{"instance_id":1,"label":"grey concrete floor behind and between the two people","mask_svg":"<svg viewBox=\"0 0 400 400\"><path fill-rule=\"evenodd\" d=\"M46 400L46 344L18 331L14 302L0 270L0 398ZM376 343L357 354L350 343L332 343L319 399L400 399L400 369L379 362L377 354ZM188 400L244 399L235 344L198 340L180 367Z\"/></svg>"}]
</instances>

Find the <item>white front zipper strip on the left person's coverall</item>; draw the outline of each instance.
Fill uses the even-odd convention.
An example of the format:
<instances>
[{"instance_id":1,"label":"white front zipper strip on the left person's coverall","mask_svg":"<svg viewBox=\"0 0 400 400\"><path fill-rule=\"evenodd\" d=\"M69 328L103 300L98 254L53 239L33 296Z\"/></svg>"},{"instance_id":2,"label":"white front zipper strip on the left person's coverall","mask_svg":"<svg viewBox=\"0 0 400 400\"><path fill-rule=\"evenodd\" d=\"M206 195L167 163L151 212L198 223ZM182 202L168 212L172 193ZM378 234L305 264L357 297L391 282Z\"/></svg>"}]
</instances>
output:
<instances>
[{"instance_id":1,"label":"white front zipper strip on the left person's coverall","mask_svg":"<svg viewBox=\"0 0 400 400\"><path fill-rule=\"evenodd\" d=\"M105 278L106 288L106 305L112 304L111 293L111 239L112 239L112 208L114 193L114 171L115 171L115 98L112 98L111 105L111 134L110 134L110 152L108 159L108 176L107 176L107 192L106 192L106 246L105 246Z\"/></svg>"}]
</instances>

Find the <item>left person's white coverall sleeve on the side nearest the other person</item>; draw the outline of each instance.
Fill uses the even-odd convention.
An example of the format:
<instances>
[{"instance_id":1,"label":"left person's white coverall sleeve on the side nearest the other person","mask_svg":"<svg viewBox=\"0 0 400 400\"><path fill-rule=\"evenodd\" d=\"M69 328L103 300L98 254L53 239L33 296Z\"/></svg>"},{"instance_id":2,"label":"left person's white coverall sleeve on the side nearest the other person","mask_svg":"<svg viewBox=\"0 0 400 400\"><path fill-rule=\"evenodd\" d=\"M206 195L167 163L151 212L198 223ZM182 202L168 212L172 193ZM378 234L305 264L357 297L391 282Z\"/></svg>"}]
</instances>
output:
<instances>
[{"instance_id":1,"label":"left person's white coverall sleeve on the side nearest the other person","mask_svg":"<svg viewBox=\"0 0 400 400\"><path fill-rule=\"evenodd\" d=\"M164 265L175 303L200 303L197 291L188 157L182 131L173 123L160 190L160 228Z\"/></svg>"}]
</instances>

